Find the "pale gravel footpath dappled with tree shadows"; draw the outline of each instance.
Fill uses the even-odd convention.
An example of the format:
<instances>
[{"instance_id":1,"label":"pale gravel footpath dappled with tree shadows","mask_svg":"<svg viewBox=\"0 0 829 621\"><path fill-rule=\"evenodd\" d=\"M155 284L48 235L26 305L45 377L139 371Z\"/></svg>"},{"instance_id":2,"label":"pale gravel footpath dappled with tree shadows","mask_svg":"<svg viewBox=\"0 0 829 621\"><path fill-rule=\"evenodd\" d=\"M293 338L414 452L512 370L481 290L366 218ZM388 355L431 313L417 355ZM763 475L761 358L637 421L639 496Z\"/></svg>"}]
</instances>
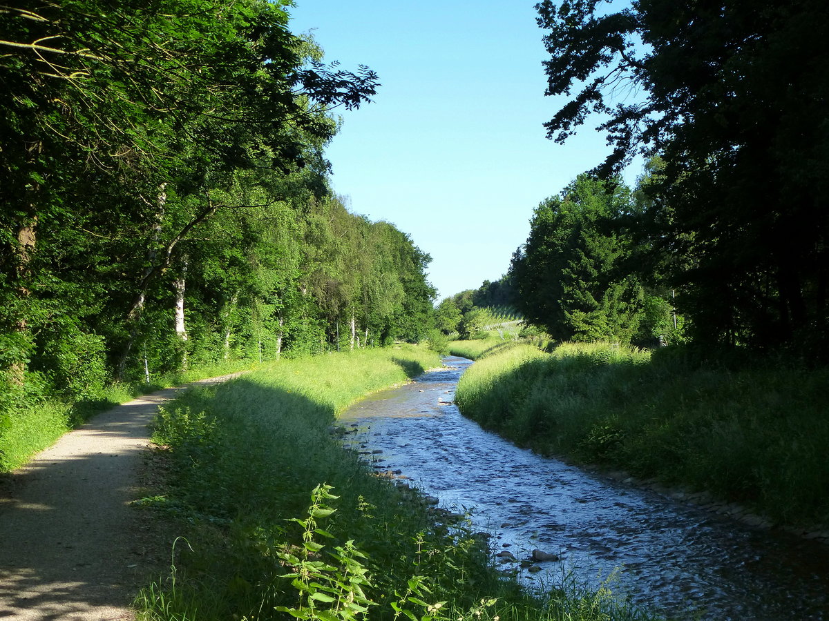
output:
<instances>
[{"instance_id":1,"label":"pale gravel footpath dappled with tree shadows","mask_svg":"<svg viewBox=\"0 0 829 621\"><path fill-rule=\"evenodd\" d=\"M3 482L0 621L133 619L129 604L160 559L148 549L158 546L148 514L128 503L136 498L148 423L159 404L186 388L101 413Z\"/></svg>"}]
</instances>

